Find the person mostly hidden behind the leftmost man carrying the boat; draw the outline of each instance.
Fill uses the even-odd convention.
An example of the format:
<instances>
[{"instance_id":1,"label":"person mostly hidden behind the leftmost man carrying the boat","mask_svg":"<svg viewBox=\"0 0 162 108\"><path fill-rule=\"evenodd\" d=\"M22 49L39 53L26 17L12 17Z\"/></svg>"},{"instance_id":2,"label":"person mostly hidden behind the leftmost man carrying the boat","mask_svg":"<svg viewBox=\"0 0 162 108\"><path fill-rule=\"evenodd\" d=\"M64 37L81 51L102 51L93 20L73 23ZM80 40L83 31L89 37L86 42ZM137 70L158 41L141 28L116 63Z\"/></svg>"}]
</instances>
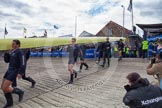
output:
<instances>
[{"instance_id":1,"label":"person mostly hidden behind the leftmost man carrying the boat","mask_svg":"<svg viewBox=\"0 0 162 108\"><path fill-rule=\"evenodd\" d=\"M26 58L25 60L26 60L26 65L27 65L27 61L28 61L29 58L30 58L30 49L25 49L25 50L23 51L23 53L24 53L24 55L25 55L25 58ZM26 70L26 66L25 66L25 70ZM35 82L35 80L33 80L31 77L29 77L29 76L26 77L26 71L25 71L25 73L22 75L22 79L31 82L31 84L32 84L32 85L31 85L31 88L34 88L36 82ZM13 82L12 87L17 87L17 82Z\"/></svg>"}]
</instances>

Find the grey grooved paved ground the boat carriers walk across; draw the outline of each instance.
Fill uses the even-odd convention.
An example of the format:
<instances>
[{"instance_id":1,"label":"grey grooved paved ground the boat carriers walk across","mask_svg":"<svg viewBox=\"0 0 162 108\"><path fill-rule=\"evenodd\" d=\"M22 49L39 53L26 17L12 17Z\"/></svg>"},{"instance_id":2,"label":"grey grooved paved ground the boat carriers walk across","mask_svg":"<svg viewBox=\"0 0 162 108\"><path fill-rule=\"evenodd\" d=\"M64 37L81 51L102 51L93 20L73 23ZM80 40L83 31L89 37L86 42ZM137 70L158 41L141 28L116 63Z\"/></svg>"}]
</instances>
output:
<instances>
[{"instance_id":1,"label":"grey grooved paved ground the boat carriers walk across","mask_svg":"<svg viewBox=\"0 0 162 108\"><path fill-rule=\"evenodd\" d=\"M0 81L7 64L0 58ZM30 83L20 80L18 86L25 91L23 102L14 97L14 108L127 108L122 103L125 94L123 86L127 83L125 76L138 72L141 76L153 81L146 75L147 60L111 59L111 66L101 68L94 60L87 60L89 70L79 73L74 84L67 85L69 74L67 59L31 58L28 62L27 75L37 81L35 88ZM75 67L78 70L78 66ZM0 90L0 107L5 103Z\"/></svg>"}]
</instances>

